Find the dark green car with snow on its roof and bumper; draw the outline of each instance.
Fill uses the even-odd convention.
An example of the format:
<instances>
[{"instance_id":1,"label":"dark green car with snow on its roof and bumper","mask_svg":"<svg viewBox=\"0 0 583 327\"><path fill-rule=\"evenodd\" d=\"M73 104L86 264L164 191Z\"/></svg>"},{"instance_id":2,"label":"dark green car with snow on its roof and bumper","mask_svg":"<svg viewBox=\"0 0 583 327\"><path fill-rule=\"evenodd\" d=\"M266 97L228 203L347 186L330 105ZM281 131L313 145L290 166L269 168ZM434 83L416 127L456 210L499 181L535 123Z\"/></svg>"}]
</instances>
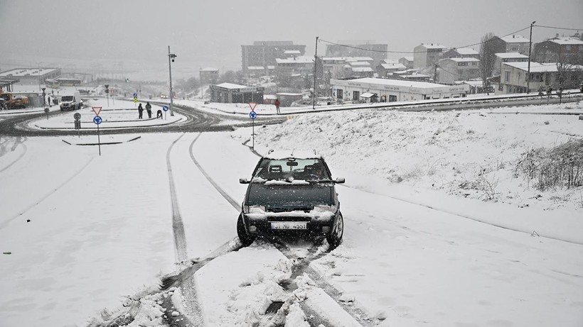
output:
<instances>
[{"instance_id":1,"label":"dark green car with snow on its roof and bumper","mask_svg":"<svg viewBox=\"0 0 583 327\"><path fill-rule=\"evenodd\" d=\"M341 243L344 221L335 184L321 155L308 152L270 152L259 160L237 220L237 235L250 245L257 235L325 235Z\"/></svg>"}]
</instances>

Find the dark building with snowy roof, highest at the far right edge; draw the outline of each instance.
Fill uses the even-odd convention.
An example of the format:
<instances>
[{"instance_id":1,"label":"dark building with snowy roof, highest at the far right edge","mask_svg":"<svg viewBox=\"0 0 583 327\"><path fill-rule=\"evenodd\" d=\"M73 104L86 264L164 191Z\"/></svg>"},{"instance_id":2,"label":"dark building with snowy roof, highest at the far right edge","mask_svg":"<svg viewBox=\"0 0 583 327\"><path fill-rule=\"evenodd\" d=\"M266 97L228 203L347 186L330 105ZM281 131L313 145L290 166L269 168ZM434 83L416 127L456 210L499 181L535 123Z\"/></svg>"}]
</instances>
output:
<instances>
[{"instance_id":1,"label":"dark building with snowy roof, highest at the far right edge","mask_svg":"<svg viewBox=\"0 0 583 327\"><path fill-rule=\"evenodd\" d=\"M551 38L534 47L536 62L564 62L583 65L583 40L577 38Z\"/></svg>"}]
</instances>

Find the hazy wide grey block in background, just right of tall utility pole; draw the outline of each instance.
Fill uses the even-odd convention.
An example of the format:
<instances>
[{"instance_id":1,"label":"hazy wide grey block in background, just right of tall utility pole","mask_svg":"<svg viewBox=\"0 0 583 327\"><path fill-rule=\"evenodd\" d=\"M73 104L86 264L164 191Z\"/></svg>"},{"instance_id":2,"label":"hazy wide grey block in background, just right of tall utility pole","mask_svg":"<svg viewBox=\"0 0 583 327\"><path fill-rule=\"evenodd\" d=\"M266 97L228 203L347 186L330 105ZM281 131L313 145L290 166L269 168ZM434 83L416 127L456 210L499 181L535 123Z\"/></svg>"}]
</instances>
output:
<instances>
[{"instance_id":1,"label":"hazy wide grey block in background, just right of tall utility pole","mask_svg":"<svg viewBox=\"0 0 583 327\"><path fill-rule=\"evenodd\" d=\"M348 45L348 46L347 46ZM389 45L372 40L341 40L338 44L326 45L326 57L370 57L371 65L376 67L387 59Z\"/></svg>"}]
</instances>

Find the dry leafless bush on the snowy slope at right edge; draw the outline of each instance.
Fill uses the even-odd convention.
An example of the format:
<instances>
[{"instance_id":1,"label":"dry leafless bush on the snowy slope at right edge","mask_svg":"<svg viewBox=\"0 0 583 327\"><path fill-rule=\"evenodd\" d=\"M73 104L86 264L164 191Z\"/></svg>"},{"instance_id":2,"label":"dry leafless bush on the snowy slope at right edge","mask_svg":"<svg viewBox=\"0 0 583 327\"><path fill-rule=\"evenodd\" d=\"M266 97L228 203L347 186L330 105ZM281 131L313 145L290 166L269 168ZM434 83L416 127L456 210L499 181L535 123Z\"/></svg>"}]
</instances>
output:
<instances>
[{"instance_id":1,"label":"dry leafless bush on the snowy slope at right edge","mask_svg":"<svg viewBox=\"0 0 583 327\"><path fill-rule=\"evenodd\" d=\"M583 185L583 139L569 140L555 148L537 148L523 153L517 172L536 181L540 191Z\"/></svg>"}]
</instances>

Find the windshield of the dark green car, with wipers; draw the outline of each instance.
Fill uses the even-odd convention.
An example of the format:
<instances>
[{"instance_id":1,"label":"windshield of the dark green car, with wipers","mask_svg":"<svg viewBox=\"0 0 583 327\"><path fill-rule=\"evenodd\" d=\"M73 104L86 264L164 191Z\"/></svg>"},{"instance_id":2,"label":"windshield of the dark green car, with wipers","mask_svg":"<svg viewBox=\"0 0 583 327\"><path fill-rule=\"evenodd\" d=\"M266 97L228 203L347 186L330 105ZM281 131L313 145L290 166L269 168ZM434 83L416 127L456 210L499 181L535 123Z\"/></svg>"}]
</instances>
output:
<instances>
[{"instance_id":1,"label":"windshield of the dark green car, with wipers","mask_svg":"<svg viewBox=\"0 0 583 327\"><path fill-rule=\"evenodd\" d=\"M267 159L264 158L253 177L268 180L330 180L330 172L321 159Z\"/></svg>"}]
</instances>

